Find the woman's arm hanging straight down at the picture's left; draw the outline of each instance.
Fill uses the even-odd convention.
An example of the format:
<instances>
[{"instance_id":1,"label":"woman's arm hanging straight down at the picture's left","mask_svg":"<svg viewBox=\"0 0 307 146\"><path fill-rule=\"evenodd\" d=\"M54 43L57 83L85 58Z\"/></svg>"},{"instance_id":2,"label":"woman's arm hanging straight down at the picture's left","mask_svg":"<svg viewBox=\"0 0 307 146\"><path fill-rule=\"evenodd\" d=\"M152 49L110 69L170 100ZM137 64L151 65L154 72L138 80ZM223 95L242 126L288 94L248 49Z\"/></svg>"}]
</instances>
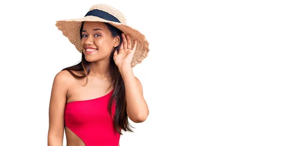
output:
<instances>
[{"instance_id":1,"label":"woman's arm hanging straight down at the picture's left","mask_svg":"<svg viewBox=\"0 0 307 146\"><path fill-rule=\"evenodd\" d=\"M68 71L55 76L49 103L48 146L63 145L64 109L68 91Z\"/></svg>"}]
</instances>

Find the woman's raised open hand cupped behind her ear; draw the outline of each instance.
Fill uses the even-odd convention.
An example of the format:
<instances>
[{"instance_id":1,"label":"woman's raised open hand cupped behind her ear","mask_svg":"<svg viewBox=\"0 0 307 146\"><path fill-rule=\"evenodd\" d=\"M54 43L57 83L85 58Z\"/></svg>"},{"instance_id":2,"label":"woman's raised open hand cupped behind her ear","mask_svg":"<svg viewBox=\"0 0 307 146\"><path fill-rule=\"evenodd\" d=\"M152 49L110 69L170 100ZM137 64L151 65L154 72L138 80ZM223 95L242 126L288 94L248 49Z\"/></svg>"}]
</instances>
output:
<instances>
[{"instance_id":1,"label":"woman's raised open hand cupped behind her ear","mask_svg":"<svg viewBox=\"0 0 307 146\"><path fill-rule=\"evenodd\" d=\"M137 48L137 40L134 40L134 46L132 47L130 36L128 34L125 36L125 34L122 33L122 38L123 42L120 49L119 51L115 51L113 56L114 62L120 70L125 67L131 67L131 61Z\"/></svg>"}]
</instances>

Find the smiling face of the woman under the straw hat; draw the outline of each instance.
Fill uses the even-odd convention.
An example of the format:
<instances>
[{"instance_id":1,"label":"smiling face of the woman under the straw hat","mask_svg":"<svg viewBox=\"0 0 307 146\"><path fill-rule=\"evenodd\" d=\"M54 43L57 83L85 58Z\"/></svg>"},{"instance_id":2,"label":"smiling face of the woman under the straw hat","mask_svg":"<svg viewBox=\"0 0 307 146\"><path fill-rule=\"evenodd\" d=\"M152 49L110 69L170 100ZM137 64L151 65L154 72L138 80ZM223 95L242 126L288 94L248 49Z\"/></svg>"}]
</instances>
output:
<instances>
[{"instance_id":1,"label":"smiling face of the woman under the straw hat","mask_svg":"<svg viewBox=\"0 0 307 146\"><path fill-rule=\"evenodd\" d=\"M86 61L108 60L119 42L119 36L113 37L103 22L84 22L81 46Z\"/></svg>"}]
</instances>

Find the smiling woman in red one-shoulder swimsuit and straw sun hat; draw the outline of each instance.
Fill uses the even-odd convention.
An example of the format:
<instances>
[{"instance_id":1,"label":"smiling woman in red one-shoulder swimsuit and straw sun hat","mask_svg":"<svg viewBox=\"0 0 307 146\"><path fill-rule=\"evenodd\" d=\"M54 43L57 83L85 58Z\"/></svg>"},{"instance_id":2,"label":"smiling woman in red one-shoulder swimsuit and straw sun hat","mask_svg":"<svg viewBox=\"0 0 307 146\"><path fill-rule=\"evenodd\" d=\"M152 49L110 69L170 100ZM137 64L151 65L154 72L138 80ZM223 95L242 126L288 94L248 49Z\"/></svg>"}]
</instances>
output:
<instances>
[{"instance_id":1,"label":"smiling woman in red one-shoulder swimsuit and straw sun hat","mask_svg":"<svg viewBox=\"0 0 307 146\"><path fill-rule=\"evenodd\" d=\"M54 78L48 145L119 145L121 131L131 131L149 114L133 67L148 54L148 42L126 25L124 15L108 5L94 5L78 19L56 26L82 53L81 62ZM133 41L131 41L133 40Z\"/></svg>"}]
</instances>

